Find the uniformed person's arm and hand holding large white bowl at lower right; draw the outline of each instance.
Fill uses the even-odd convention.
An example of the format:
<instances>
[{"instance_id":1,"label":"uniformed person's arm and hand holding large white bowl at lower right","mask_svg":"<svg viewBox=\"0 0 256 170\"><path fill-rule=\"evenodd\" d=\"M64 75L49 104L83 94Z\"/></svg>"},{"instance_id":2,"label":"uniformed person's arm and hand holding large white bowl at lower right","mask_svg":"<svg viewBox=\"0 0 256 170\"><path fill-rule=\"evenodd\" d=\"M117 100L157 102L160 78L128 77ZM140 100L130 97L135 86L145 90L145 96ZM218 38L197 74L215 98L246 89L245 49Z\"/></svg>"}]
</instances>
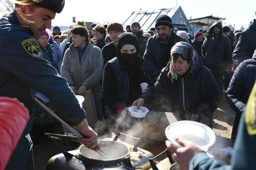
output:
<instances>
[{"instance_id":1,"label":"uniformed person's arm and hand holding large white bowl at lower right","mask_svg":"<svg viewBox=\"0 0 256 170\"><path fill-rule=\"evenodd\" d=\"M230 165L211 159L194 142L183 138L176 140L182 147L177 147L168 140L165 144L169 150L174 152L172 158L177 161L181 170L256 169L256 83L251 91L247 110L240 119Z\"/></svg>"}]
</instances>

